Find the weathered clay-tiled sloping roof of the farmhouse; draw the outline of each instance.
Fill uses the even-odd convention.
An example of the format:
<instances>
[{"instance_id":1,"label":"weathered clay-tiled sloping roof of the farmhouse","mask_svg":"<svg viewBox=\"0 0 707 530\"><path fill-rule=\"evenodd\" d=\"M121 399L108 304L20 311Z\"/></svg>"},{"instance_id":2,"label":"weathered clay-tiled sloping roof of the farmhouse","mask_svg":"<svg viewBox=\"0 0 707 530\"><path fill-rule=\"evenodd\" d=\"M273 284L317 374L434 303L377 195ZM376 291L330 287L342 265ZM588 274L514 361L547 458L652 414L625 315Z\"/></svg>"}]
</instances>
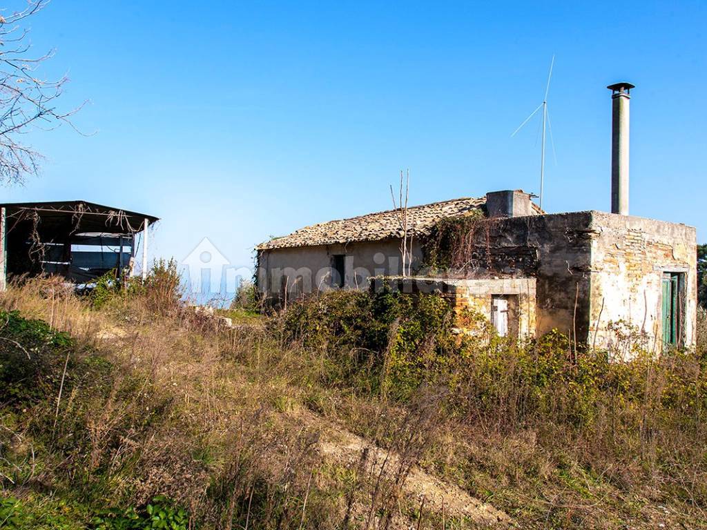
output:
<instances>
[{"instance_id":1,"label":"weathered clay-tiled sloping roof of the farmhouse","mask_svg":"<svg viewBox=\"0 0 707 530\"><path fill-rule=\"evenodd\" d=\"M422 206L409 206L409 229L415 236L428 232L440 219L469 215L486 204L486 197L452 199ZM305 226L284 237L276 237L257 247L258 250L288 247L314 247L354 241L379 241L388 237L402 237L397 217L399 211L387 210L365 216L332 220L327 223Z\"/></svg>"}]
</instances>

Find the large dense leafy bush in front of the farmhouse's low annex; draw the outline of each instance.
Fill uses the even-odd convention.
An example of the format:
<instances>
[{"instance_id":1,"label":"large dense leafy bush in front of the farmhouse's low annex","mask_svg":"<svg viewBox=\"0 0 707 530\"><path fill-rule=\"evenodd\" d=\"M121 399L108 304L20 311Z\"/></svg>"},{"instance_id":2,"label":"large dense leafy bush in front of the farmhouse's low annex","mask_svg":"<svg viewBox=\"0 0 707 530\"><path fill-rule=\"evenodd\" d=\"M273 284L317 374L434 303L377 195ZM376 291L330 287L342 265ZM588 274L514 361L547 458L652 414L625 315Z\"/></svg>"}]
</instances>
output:
<instances>
[{"instance_id":1,"label":"large dense leafy bush in front of the farmhouse's low annex","mask_svg":"<svg viewBox=\"0 0 707 530\"><path fill-rule=\"evenodd\" d=\"M452 320L438 295L337 290L291 305L284 330L288 340L327 353L327 383L404 399L452 355Z\"/></svg>"}]
</instances>

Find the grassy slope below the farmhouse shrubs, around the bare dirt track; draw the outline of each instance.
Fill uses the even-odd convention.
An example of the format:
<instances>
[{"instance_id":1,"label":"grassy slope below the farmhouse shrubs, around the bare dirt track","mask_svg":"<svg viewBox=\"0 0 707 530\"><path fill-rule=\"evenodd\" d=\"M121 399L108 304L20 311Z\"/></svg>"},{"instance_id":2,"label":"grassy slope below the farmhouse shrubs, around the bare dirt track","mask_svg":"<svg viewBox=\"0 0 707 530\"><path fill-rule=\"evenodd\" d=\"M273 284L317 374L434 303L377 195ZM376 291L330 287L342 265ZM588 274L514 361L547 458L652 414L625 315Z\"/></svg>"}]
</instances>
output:
<instances>
[{"instance_id":1,"label":"grassy slope below the farmhouse shrubs, around the bare dirt track","mask_svg":"<svg viewBox=\"0 0 707 530\"><path fill-rule=\"evenodd\" d=\"M472 421L437 413L447 398L428 389L402 407L373 398L366 378L332 377L331 344L286 341L280 322L217 331L205 317L159 314L144 297L114 302L92 310L50 283L0 301L74 337L69 346L33 346L50 360L48 382L27 406L0 412L3 492L23 499L33 526L79 528L98 510L141 507L160 494L206 527L247 520L249 528L333 528L347 513L364 527L386 510L397 512L394 526L414 522L419 505L399 495L392 478L379 483L356 459L327 461L315 450L334 424L404 454L401 471L419 462L522 528L707 527L703 453L691 468L662 469L684 466L685 457L644 454L676 447L659 440L660 425L649 426L655 435L640 447L628 447L634 437L617 438L627 444L621 453L604 450L596 440L607 437L597 432L506 425L508 403L491 409L498 418ZM0 335L24 340L9 329ZM24 354L9 341L1 347ZM600 421L588 430L609 428ZM442 518L439 505L428 504L422 527L441 527ZM444 518L447 528L474 526Z\"/></svg>"}]
</instances>

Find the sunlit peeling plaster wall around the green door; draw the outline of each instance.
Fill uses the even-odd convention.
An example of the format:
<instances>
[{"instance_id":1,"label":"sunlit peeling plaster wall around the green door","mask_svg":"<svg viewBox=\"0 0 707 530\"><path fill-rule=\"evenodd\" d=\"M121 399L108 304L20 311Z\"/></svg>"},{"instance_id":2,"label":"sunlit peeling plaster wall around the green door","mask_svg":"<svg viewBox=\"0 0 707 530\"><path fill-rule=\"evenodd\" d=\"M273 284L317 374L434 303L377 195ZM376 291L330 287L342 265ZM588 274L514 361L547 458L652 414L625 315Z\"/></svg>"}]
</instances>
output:
<instances>
[{"instance_id":1,"label":"sunlit peeling plaster wall around the green door","mask_svg":"<svg viewBox=\"0 0 707 530\"><path fill-rule=\"evenodd\" d=\"M597 345L627 348L609 329L625 322L651 351L662 347L662 273L685 274L686 346L695 342L696 230L663 221L592 212L590 335ZM630 351L622 353L624 357Z\"/></svg>"}]
</instances>

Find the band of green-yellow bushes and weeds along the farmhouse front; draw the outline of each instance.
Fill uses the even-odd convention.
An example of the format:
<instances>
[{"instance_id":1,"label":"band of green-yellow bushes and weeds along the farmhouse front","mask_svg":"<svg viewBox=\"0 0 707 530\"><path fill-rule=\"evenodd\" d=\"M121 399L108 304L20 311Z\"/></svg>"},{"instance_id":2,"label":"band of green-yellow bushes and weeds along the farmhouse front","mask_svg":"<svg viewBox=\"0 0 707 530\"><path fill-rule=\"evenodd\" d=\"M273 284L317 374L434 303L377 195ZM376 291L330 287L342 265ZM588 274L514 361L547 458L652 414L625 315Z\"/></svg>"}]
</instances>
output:
<instances>
[{"instance_id":1,"label":"band of green-yellow bushes and weeds along the farmhouse front","mask_svg":"<svg viewBox=\"0 0 707 530\"><path fill-rule=\"evenodd\" d=\"M630 363L614 363L591 349L575 358L561 334L526 343L455 338L448 306L431 295L413 302L393 293L332 293L285 318L293 336L332 355L325 384L403 405L421 385L443 388L445 411L462 425L492 437L532 432L604 480L657 482L669 497L707 505L707 447L699 442L707 439L703 345L658 358L638 351Z\"/></svg>"}]
</instances>

